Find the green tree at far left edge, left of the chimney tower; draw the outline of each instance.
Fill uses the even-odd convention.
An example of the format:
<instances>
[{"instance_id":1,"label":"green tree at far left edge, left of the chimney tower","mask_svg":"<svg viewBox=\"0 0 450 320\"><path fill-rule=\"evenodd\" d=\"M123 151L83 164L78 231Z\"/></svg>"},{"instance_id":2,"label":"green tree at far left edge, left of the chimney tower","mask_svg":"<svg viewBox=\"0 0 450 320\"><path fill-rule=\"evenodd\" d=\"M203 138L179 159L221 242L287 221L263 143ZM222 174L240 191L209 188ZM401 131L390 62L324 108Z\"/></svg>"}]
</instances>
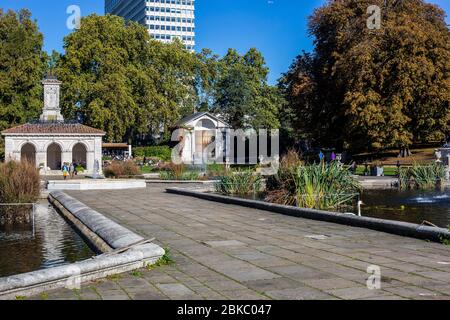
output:
<instances>
[{"instance_id":1,"label":"green tree at far left edge, left of the chimney tower","mask_svg":"<svg viewBox=\"0 0 450 320\"><path fill-rule=\"evenodd\" d=\"M28 10L0 9L0 131L36 118L42 109L40 82L47 58L42 43Z\"/></svg>"}]
</instances>

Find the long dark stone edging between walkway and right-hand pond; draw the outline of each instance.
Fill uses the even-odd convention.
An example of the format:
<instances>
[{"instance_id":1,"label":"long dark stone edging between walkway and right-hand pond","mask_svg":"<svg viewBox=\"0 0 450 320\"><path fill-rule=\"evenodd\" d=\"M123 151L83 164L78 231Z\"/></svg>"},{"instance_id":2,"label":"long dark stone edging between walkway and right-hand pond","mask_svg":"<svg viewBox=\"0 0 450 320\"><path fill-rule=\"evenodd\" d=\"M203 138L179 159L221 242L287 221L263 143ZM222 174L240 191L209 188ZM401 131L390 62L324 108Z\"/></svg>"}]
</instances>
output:
<instances>
[{"instance_id":1,"label":"long dark stone edging between walkway and right-hand pond","mask_svg":"<svg viewBox=\"0 0 450 320\"><path fill-rule=\"evenodd\" d=\"M405 237L441 242L443 238L450 239L450 232L444 228L428 227L413 223L391 221L370 217L358 217L348 214L334 213L321 210L283 206L263 201L240 199L218 194L191 191L180 188L168 188L168 193L196 197L199 199L234 204L253 209L281 213L288 216L343 224L352 227L367 228L376 231L396 234Z\"/></svg>"}]
</instances>

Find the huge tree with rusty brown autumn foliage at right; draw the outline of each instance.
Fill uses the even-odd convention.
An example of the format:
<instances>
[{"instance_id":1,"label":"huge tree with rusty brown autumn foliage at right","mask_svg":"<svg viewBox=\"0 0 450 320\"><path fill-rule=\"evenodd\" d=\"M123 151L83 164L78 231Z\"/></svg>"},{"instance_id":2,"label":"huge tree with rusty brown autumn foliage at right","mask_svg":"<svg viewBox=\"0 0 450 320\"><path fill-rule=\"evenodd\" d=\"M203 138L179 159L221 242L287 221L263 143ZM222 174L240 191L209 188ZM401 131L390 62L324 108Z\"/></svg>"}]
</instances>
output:
<instances>
[{"instance_id":1,"label":"huge tree with rusty brown autumn foliage at right","mask_svg":"<svg viewBox=\"0 0 450 320\"><path fill-rule=\"evenodd\" d=\"M371 5L381 28L370 29ZM329 0L310 17L312 54L280 86L296 133L340 148L441 141L450 121L450 33L423 0Z\"/></svg>"}]
</instances>

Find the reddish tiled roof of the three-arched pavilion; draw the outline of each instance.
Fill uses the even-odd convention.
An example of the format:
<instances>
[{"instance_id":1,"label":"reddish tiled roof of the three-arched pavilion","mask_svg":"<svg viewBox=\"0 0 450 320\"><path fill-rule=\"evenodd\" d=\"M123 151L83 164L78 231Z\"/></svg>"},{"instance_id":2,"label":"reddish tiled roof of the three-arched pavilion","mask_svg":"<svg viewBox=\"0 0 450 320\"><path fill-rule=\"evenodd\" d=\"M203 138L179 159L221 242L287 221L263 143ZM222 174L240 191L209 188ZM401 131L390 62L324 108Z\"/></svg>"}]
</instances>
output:
<instances>
[{"instance_id":1,"label":"reddish tiled roof of the three-arched pavilion","mask_svg":"<svg viewBox=\"0 0 450 320\"><path fill-rule=\"evenodd\" d=\"M99 129L85 126L80 123L26 123L17 127L6 129L2 134L102 134Z\"/></svg>"}]
</instances>

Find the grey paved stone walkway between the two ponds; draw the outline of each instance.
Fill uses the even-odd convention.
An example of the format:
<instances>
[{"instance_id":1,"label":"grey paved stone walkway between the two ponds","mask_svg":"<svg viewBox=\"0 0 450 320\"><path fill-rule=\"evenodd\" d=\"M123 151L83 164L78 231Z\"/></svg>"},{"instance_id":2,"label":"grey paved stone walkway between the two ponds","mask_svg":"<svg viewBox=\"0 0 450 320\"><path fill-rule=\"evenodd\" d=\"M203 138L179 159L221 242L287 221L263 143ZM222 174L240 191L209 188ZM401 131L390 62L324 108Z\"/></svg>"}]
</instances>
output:
<instances>
[{"instance_id":1,"label":"grey paved stone walkway between the two ponds","mask_svg":"<svg viewBox=\"0 0 450 320\"><path fill-rule=\"evenodd\" d=\"M35 299L450 299L450 247L146 190L71 192L174 265ZM378 265L382 288L368 290Z\"/></svg>"}]
</instances>

